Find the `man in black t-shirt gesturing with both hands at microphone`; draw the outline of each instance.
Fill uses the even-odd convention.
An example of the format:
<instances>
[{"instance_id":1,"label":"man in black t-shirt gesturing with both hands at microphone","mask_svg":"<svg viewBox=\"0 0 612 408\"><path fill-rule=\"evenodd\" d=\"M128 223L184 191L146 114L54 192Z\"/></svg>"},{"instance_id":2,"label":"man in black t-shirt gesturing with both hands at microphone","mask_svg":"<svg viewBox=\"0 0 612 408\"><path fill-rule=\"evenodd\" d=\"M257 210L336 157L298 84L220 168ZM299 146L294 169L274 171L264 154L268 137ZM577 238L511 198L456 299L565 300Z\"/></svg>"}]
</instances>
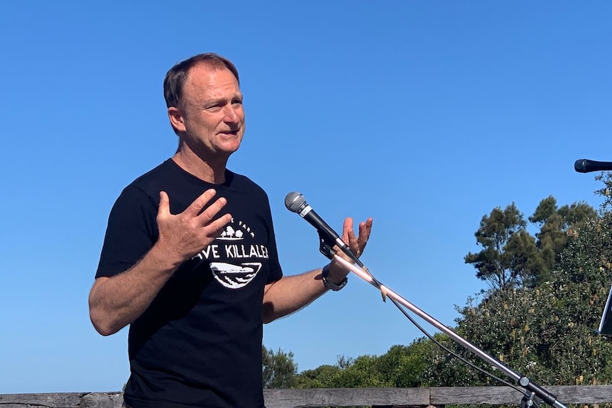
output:
<instances>
[{"instance_id":1,"label":"man in black t-shirt gesturing with both hands at microphone","mask_svg":"<svg viewBox=\"0 0 612 408\"><path fill-rule=\"evenodd\" d=\"M145 407L263 407L263 323L290 314L347 271L284 276L268 197L226 169L244 136L236 67L196 55L164 80L175 155L138 177L116 200L89 294L104 336L129 330L126 404ZM360 254L372 220L343 226Z\"/></svg>"}]
</instances>

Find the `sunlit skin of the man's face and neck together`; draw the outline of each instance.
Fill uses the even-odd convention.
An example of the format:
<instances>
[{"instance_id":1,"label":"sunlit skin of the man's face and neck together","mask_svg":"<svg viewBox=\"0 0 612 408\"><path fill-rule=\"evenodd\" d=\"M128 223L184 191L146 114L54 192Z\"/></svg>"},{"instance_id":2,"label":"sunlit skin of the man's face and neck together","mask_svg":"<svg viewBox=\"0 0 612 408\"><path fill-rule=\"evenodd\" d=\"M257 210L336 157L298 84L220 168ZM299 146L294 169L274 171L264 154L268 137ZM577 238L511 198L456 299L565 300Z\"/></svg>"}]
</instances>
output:
<instances>
[{"instance_id":1,"label":"sunlit skin of the man's face and neck together","mask_svg":"<svg viewBox=\"0 0 612 408\"><path fill-rule=\"evenodd\" d=\"M204 64L192 67L181 106L168 108L170 123L180 136L173 160L202 180L224 182L227 160L244 136L242 100L230 70Z\"/></svg>"}]
</instances>

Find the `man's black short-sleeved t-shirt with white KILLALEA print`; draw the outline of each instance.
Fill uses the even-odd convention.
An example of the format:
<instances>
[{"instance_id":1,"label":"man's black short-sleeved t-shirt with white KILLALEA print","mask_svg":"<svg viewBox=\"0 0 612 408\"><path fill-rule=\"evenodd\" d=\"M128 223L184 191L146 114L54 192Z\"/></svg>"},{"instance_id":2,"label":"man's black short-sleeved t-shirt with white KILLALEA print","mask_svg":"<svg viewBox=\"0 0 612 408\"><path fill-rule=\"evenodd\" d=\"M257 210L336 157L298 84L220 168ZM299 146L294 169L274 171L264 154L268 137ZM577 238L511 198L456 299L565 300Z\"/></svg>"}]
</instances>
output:
<instances>
[{"instance_id":1,"label":"man's black short-sleeved t-shirt with white KILLALEA print","mask_svg":"<svg viewBox=\"0 0 612 408\"><path fill-rule=\"evenodd\" d=\"M229 171L224 184L209 184L166 160L116 200L96 277L128 270L157 241L161 190L179 214L209 188L226 197L222 214L233 219L130 325L124 397L131 407L263 407L263 287L282 270L261 187Z\"/></svg>"}]
</instances>

